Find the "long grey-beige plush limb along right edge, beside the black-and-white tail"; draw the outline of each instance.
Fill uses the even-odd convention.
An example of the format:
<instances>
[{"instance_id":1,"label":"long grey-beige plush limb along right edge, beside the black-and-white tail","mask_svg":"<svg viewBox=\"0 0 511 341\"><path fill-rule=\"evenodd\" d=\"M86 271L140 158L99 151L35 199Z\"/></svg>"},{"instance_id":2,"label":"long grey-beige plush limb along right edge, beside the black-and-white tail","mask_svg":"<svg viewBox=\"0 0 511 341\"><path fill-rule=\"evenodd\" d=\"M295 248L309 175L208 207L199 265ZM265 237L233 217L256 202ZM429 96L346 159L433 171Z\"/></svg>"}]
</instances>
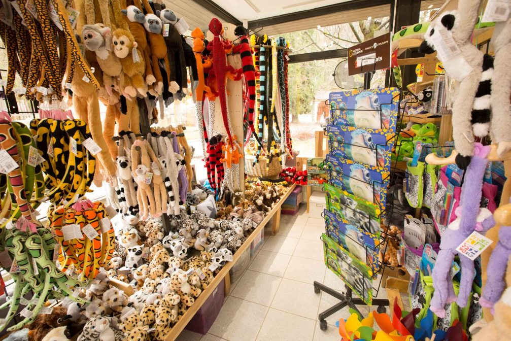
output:
<instances>
[{"instance_id":1,"label":"long grey-beige plush limb along right edge, beside the black-and-white tail","mask_svg":"<svg viewBox=\"0 0 511 341\"><path fill-rule=\"evenodd\" d=\"M503 25L500 34L493 38L495 47L494 73L492 77L492 141L498 143L497 154L502 156L511 150L511 117L509 116L509 98L511 95L511 18ZM497 31L497 30L496 30Z\"/></svg>"}]
</instances>

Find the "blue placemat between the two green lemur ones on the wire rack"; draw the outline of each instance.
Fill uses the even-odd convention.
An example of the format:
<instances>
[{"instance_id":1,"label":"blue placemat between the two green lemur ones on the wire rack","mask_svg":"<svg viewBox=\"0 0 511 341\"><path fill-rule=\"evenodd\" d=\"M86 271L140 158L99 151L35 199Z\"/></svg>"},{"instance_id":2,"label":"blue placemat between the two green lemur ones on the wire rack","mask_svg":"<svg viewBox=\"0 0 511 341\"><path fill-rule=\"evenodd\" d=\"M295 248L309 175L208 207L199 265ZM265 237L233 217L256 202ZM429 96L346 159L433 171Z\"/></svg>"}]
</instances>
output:
<instances>
[{"instance_id":1,"label":"blue placemat between the two green lemur ones on the wire rack","mask_svg":"<svg viewBox=\"0 0 511 341\"><path fill-rule=\"evenodd\" d=\"M376 273L380 252L379 239L373 234L358 229L355 225L347 224L328 210L324 210L324 220L328 236L357 259L366 263L373 271L371 275Z\"/></svg>"}]
</instances>

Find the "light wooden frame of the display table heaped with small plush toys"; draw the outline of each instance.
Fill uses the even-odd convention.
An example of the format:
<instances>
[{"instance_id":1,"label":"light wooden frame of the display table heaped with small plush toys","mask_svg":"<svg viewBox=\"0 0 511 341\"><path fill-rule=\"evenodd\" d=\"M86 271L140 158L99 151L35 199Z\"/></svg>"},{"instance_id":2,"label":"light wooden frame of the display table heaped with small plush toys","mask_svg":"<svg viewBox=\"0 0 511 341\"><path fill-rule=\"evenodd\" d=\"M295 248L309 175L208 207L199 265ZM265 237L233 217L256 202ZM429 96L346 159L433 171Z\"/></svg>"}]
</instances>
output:
<instances>
[{"instance_id":1,"label":"light wooden frame of the display table heaped with small plush toys","mask_svg":"<svg viewBox=\"0 0 511 341\"><path fill-rule=\"evenodd\" d=\"M176 323L174 327L172 327L172 330L167 335L166 338L167 341L173 341L179 336L184 327L186 327L190 320L192 320L192 317L195 315L195 313L200 309L200 307L202 307L204 302L206 302L207 298L210 297L210 295L215 291L215 289L220 284L220 282L222 282L223 279L225 279L224 283L225 295L227 296L229 294L230 292L229 270L231 269L231 267L234 266L234 264L236 264L238 259L240 259L241 255L250 247L252 241L254 241L254 239L261 234L261 231L264 229L264 226L270 221L272 217L273 217L271 226L272 234L275 235L278 232L278 229L280 228L282 204L284 203L284 201L286 201L286 199L289 197L289 195L295 188L296 184L293 184L291 187L289 187L286 194L284 194L281 197L281 199L275 204L271 211L268 212L268 215L266 215L263 221L257 226L257 228L254 229L254 231L252 231L250 236L247 237L247 240L243 243L243 245L241 245L240 248L238 248L236 253L233 255L233 261L227 262L222 267L220 272L218 272L218 274L215 276L210 285L208 285L207 288L201 292L199 297L195 299L194 304L188 308L188 310L183 314L183 316L181 316L179 322ZM110 283L113 286L118 287L121 290L124 290L126 294L128 294L128 292L130 292L130 294L133 293L133 288L124 282L110 278Z\"/></svg>"}]
</instances>

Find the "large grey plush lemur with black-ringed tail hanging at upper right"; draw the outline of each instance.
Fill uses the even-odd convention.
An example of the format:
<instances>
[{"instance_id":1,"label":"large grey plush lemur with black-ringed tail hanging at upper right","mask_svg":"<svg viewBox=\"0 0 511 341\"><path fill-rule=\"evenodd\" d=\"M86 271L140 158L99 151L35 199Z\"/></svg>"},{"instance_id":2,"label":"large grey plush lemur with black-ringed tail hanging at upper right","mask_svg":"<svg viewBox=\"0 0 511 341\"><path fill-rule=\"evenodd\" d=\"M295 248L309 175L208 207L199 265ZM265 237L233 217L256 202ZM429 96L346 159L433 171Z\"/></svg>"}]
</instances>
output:
<instances>
[{"instance_id":1,"label":"large grey plush lemur with black-ringed tail hanging at upper right","mask_svg":"<svg viewBox=\"0 0 511 341\"><path fill-rule=\"evenodd\" d=\"M471 42L471 34L478 20L477 8L480 0L460 0L457 11L449 11L431 22L425 33L425 40L419 50L424 53L435 51L431 37L444 27L452 33L461 53L443 61L448 76L460 81L453 103L453 138L456 164L466 169L474 150L473 135L483 138L490 132L491 83L493 57L483 55Z\"/></svg>"}]
</instances>

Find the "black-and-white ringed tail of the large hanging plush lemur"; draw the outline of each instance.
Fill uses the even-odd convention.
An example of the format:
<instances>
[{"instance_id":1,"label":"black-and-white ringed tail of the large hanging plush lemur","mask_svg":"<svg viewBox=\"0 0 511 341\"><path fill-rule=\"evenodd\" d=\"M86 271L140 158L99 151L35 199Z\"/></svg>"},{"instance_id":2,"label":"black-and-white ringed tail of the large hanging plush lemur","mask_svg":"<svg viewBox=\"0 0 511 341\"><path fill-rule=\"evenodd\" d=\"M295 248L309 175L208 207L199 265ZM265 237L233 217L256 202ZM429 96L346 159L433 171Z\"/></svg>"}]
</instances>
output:
<instances>
[{"instance_id":1,"label":"black-and-white ringed tail of the large hanging plush lemur","mask_svg":"<svg viewBox=\"0 0 511 341\"><path fill-rule=\"evenodd\" d=\"M472 130L479 138L490 133L491 106L490 97L493 76L493 57L485 54L482 62L482 75L477 87L474 106L472 107Z\"/></svg>"}]
</instances>

